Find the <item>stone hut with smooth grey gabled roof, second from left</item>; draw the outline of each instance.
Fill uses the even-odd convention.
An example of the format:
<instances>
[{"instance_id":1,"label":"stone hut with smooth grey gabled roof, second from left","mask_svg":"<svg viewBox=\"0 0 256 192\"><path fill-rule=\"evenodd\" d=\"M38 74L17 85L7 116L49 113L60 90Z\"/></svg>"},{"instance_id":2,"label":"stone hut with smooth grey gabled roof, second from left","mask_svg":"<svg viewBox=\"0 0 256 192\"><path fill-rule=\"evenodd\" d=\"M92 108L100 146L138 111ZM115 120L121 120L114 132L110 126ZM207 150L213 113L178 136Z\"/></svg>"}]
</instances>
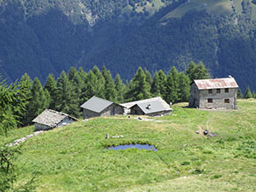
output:
<instances>
[{"instance_id":1,"label":"stone hut with smooth grey gabled roof, second from left","mask_svg":"<svg viewBox=\"0 0 256 192\"><path fill-rule=\"evenodd\" d=\"M93 96L87 102L84 102L81 108L83 108L84 119L124 113L123 106L97 96Z\"/></svg>"}]
</instances>

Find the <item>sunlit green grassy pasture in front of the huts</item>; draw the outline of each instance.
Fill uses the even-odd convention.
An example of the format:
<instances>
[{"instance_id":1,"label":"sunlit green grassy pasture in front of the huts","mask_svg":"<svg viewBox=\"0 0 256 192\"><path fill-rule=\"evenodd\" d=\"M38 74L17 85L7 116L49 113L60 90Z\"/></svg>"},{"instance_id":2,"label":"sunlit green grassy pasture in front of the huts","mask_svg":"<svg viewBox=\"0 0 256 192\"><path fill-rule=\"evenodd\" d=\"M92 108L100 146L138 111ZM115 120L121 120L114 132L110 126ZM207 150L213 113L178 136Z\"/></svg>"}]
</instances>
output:
<instances>
[{"instance_id":1,"label":"sunlit green grassy pasture in front of the huts","mask_svg":"<svg viewBox=\"0 0 256 192\"><path fill-rule=\"evenodd\" d=\"M35 175L37 191L256 191L256 101L239 101L237 111L186 105L157 121L97 118L32 137L15 161L17 182ZM207 126L218 136L195 133ZM30 132L12 131L0 143ZM107 140L106 133L124 137ZM158 151L104 150L122 143L150 143Z\"/></svg>"}]
</instances>

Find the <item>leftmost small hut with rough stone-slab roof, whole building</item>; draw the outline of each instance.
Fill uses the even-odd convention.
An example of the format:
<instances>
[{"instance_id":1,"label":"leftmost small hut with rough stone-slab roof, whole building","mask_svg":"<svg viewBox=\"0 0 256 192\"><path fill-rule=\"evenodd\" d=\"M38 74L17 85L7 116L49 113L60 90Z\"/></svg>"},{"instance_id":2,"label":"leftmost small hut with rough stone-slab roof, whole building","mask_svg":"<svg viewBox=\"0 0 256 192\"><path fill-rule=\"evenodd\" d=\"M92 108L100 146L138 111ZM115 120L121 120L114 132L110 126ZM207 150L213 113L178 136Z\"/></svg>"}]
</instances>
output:
<instances>
[{"instance_id":1,"label":"leftmost small hut with rough stone-slab roof, whole building","mask_svg":"<svg viewBox=\"0 0 256 192\"><path fill-rule=\"evenodd\" d=\"M78 119L66 114L57 112L51 109L45 109L43 113L32 120L35 123L35 131L50 130L55 127L71 124Z\"/></svg>"}]
</instances>

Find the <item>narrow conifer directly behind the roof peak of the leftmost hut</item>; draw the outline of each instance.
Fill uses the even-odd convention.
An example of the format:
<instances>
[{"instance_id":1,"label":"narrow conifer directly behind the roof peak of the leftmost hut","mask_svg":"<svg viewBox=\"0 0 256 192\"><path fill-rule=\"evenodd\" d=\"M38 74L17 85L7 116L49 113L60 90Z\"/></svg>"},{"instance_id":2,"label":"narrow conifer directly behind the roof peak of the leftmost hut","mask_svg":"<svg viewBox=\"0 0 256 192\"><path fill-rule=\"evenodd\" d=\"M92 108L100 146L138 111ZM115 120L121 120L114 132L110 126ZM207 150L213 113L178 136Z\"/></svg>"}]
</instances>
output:
<instances>
[{"instance_id":1,"label":"narrow conifer directly behind the roof peak of the leftmost hut","mask_svg":"<svg viewBox=\"0 0 256 192\"><path fill-rule=\"evenodd\" d=\"M57 83L53 74L49 74L46 83L44 84L44 91L47 90L49 93L49 107L50 109L56 109L56 92L57 92Z\"/></svg>"}]
</instances>

